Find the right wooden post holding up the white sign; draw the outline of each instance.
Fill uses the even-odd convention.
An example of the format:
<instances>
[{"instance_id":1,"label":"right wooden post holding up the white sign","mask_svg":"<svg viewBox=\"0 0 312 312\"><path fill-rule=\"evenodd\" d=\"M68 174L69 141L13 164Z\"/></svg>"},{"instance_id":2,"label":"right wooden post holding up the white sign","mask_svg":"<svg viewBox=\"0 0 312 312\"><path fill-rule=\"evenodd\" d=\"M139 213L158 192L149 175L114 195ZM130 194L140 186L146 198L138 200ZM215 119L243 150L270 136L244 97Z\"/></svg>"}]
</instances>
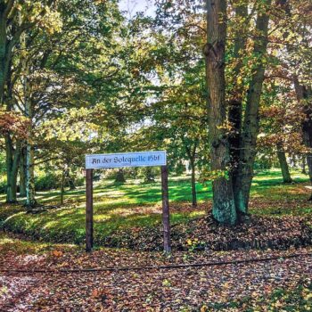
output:
<instances>
[{"instance_id":1,"label":"right wooden post holding up the white sign","mask_svg":"<svg viewBox=\"0 0 312 312\"><path fill-rule=\"evenodd\" d=\"M168 168L161 166L161 193L162 193L162 225L164 238L164 251L170 252L170 215L168 200Z\"/></svg>"}]
</instances>

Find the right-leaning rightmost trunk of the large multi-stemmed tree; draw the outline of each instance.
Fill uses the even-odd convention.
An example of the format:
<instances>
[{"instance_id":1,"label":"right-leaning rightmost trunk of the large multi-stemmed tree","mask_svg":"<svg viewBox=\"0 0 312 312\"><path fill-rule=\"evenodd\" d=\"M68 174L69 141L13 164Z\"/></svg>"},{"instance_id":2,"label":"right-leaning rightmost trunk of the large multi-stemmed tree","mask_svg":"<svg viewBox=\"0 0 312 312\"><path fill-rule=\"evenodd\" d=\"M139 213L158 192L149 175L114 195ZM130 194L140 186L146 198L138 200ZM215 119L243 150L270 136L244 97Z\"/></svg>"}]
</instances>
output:
<instances>
[{"instance_id":1,"label":"right-leaning rightmost trunk of the large multi-stemmed tree","mask_svg":"<svg viewBox=\"0 0 312 312\"><path fill-rule=\"evenodd\" d=\"M268 11L271 0L264 1ZM269 16L259 9L256 38L253 54L258 57L258 67L251 77L247 94L246 110L242 125L242 141L238 176L235 179L234 198L235 206L240 218L248 213L250 186L253 177L253 165L256 157L257 136L259 135L259 103L262 93L262 84L265 77L265 62L263 57L267 53L267 30Z\"/></svg>"}]
</instances>

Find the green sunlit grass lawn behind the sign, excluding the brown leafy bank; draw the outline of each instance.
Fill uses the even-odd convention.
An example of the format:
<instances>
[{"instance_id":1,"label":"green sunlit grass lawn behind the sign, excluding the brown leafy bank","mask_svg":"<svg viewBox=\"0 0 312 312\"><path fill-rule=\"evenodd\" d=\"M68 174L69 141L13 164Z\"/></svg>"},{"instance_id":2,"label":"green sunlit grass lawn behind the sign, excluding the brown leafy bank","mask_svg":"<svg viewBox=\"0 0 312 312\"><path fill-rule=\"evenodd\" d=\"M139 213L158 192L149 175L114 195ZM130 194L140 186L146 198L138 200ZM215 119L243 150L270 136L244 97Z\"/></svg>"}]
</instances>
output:
<instances>
[{"instance_id":1,"label":"green sunlit grass lawn behind the sign, excluding the brown leafy bank","mask_svg":"<svg viewBox=\"0 0 312 312\"><path fill-rule=\"evenodd\" d=\"M259 173L251 189L250 212L272 215L307 215L312 206L307 201L308 190L304 185L308 177L293 172L296 184L283 185L279 170ZM198 209L192 209L190 177L169 178L171 223L185 222L204 215L205 203L211 201L211 185L196 185ZM60 201L57 191L38 192L37 200L43 204ZM0 196L4 202L4 195ZM160 180L143 184L129 180L125 185L115 185L103 180L94 185L94 236L95 242L118 230L144 226L160 226ZM42 241L83 243L85 238L85 189L68 191L65 205L40 214L27 214L21 206L1 205L0 228L27 234Z\"/></svg>"}]
</instances>

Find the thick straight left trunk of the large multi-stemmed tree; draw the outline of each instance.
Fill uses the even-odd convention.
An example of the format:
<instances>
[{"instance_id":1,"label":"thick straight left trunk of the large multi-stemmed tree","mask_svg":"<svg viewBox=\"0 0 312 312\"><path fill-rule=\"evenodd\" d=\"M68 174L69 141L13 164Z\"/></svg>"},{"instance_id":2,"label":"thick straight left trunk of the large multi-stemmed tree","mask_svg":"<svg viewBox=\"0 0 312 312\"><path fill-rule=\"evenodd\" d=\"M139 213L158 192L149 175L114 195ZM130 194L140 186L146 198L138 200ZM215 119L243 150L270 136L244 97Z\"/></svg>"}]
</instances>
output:
<instances>
[{"instance_id":1,"label":"thick straight left trunk of the large multi-stemmed tree","mask_svg":"<svg viewBox=\"0 0 312 312\"><path fill-rule=\"evenodd\" d=\"M209 106L209 149L212 181L212 216L219 223L234 225L236 211L231 181L226 178L230 161L226 135L226 0L207 0L208 43L204 47Z\"/></svg>"}]
</instances>

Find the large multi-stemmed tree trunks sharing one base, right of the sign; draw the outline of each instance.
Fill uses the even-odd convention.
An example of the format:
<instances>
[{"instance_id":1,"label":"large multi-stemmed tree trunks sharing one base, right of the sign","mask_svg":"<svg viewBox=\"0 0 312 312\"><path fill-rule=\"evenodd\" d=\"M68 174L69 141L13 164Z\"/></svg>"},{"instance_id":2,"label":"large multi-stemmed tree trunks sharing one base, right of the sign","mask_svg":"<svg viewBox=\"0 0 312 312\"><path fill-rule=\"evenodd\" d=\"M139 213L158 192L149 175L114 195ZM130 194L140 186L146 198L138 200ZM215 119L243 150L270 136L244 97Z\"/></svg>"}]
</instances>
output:
<instances>
[{"instance_id":1,"label":"large multi-stemmed tree trunks sharing one base, right of the sign","mask_svg":"<svg viewBox=\"0 0 312 312\"><path fill-rule=\"evenodd\" d=\"M207 2L208 44L204 53L207 63L207 83L209 101L209 136L210 159L212 170L218 173L213 181L213 216L220 223L233 225L248 213L250 185L256 156L257 137L259 135L259 104L266 70L268 43L268 22L271 1L255 4L257 21L256 39L252 42L249 86L242 119L242 88L239 88L237 101L231 101L230 116L226 118L226 1ZM236 9L238 17L246 14L246 6ZM247 19L247 16L245 17ZM242 23L245 25L245 23ZM244 31L242 31L244 33ZM237 34L237 32L236 32ZM246 40L236 39L234 58L240 52ZM237 62L237 60L236 60ZM241 65L234 66L234 72L241 70ZM240 76L237 79L242 78ZM237 80L238 81L238 80ZM239 86L240 83L236 83ZM237 87L236 87L237 88ZM230 121L231 123L229 123ZM230 140L230 130L234 126L234 139ZM233 144L232 147L229 144ZM239 152L235 152L239 151ZM230 168L230 153L233 156ZM231 172L231 170L233 170ZM231 180L226 178L230 173ZM233 182L233 184L232 184ZM233 203L234 199L234 203Z\"/></svg>"}]
</instances>

